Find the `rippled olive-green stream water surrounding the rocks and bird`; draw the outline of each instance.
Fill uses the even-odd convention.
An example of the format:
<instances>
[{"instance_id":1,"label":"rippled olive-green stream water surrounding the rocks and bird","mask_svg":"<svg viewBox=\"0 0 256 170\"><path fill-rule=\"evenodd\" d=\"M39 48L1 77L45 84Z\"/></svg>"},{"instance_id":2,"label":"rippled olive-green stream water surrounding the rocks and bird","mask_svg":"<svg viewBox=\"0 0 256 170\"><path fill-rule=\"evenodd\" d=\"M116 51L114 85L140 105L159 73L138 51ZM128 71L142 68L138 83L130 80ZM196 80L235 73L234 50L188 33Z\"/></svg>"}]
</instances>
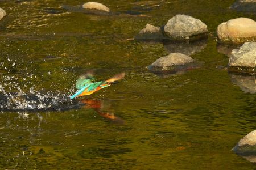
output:
<instances>
[{"instance_id":1,"label":"rippled olive-green stream water surrounding the rocks and bird","mask_svg":"<svg viewBox=\"0 0 256 170\"><path fill-rule=\"evenodd\" d=\"M123 14L108 16L61 8L84 3L78 0L1 1L8 14L0 22L0 80L7 94L48 92L68 100L88 70L98 80L121 71L126 77L84 98L84 105L2 111L0 168L256 168L230 151L256 120L256 95L231 81L222 69L228 57L217 50L218 24L241 16L256 20L229 10L233 2L101 1ZM176 14L208 25L204 48L192 56L204 65L157 76L145 67L167 55L166 46L131 39L147 23L160 27Z\"/></svg>"}]
</instances>

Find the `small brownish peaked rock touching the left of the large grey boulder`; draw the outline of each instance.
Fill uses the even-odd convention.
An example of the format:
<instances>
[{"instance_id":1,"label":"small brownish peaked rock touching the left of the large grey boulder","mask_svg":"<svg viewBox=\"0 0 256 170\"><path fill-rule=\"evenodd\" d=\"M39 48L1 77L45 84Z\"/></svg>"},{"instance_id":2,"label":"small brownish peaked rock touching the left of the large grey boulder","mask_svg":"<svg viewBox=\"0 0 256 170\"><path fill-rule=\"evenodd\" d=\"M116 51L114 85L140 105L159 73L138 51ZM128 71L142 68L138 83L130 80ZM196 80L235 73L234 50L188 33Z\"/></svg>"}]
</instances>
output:
<instances>
[{"instance_id":1,"label":"small brownish peaked rock touching the left of the large grey boulder","mask_svg":"<svg viewBox=\"0 0 256 170\"><path fill-rule=\"evenodd\" d=\"M163 32L159 27L147 24L146 28L139 31L138 35L135 36L135 40L162 40Z\"/></svg>"}]
</instances>

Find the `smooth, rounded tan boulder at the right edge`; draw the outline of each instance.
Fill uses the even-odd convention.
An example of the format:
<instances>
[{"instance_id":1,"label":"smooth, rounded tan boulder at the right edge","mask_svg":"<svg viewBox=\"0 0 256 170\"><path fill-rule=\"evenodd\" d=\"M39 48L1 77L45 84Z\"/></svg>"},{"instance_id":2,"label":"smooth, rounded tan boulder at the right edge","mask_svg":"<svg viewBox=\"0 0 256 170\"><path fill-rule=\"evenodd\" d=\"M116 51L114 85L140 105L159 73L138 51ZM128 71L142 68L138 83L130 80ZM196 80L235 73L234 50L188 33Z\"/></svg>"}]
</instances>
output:
<instances>
[{"instance_id":1,"label":"smooth, rounded tan boulder at the right edge","mask_svg":"<svg viewBox=\"0 0 256 170\"><path fill-rule=\"evenodd\" d=\"M217 35L221 42L256 41L256 22L249 18L230 19L218 25Z\"/></svg>"}]
</instances>

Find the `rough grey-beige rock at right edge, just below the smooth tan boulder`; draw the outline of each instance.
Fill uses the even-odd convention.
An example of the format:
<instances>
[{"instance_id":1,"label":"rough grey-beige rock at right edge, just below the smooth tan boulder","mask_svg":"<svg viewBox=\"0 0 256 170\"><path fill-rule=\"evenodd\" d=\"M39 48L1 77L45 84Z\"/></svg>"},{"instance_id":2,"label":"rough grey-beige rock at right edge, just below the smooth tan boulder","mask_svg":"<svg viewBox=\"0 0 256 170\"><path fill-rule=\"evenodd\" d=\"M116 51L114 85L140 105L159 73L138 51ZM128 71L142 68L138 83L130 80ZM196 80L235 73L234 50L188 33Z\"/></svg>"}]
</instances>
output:
<instances>
[{"instance_id":1,"label":"rough grey-beige rock at right edge, just below the smooth tan boulder","mask_svg":"<svg viewBox=\"0 0 256 170\"><path fill-rule=\"evenodd\" d=\"M240 72L254 72L256 61L256 42L246 42L240 49L232 50L229 69Z\"/></svg>"}]
</instances>

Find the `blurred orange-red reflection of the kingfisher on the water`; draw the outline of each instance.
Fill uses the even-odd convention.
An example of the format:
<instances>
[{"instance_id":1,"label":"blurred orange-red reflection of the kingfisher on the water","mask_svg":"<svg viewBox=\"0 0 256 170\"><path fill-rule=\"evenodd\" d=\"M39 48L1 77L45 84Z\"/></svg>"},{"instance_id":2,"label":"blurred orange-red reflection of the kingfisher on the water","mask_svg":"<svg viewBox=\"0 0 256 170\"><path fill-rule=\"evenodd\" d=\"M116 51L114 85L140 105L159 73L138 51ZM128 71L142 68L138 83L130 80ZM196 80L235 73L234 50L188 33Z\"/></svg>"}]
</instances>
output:
<instances>
[{"instance_id":1,"label":"blurred orange-red reflection of the kingfisher on the water","mask_svg":"<svg viewBox=\"0 0 256 170\"><path fill-rule=\"evenodd\" d=\"M123 121L122 118L115 116L114 113L102 112L102 108L104 108L103 100L82 99L80 101L85 104L85 108L94 109L94 111L96 111L98 114L100 114L101 117L104 117L106 120L109 120L115 124L125 124L125 121Z\"/></svg>"}]
</instances>

